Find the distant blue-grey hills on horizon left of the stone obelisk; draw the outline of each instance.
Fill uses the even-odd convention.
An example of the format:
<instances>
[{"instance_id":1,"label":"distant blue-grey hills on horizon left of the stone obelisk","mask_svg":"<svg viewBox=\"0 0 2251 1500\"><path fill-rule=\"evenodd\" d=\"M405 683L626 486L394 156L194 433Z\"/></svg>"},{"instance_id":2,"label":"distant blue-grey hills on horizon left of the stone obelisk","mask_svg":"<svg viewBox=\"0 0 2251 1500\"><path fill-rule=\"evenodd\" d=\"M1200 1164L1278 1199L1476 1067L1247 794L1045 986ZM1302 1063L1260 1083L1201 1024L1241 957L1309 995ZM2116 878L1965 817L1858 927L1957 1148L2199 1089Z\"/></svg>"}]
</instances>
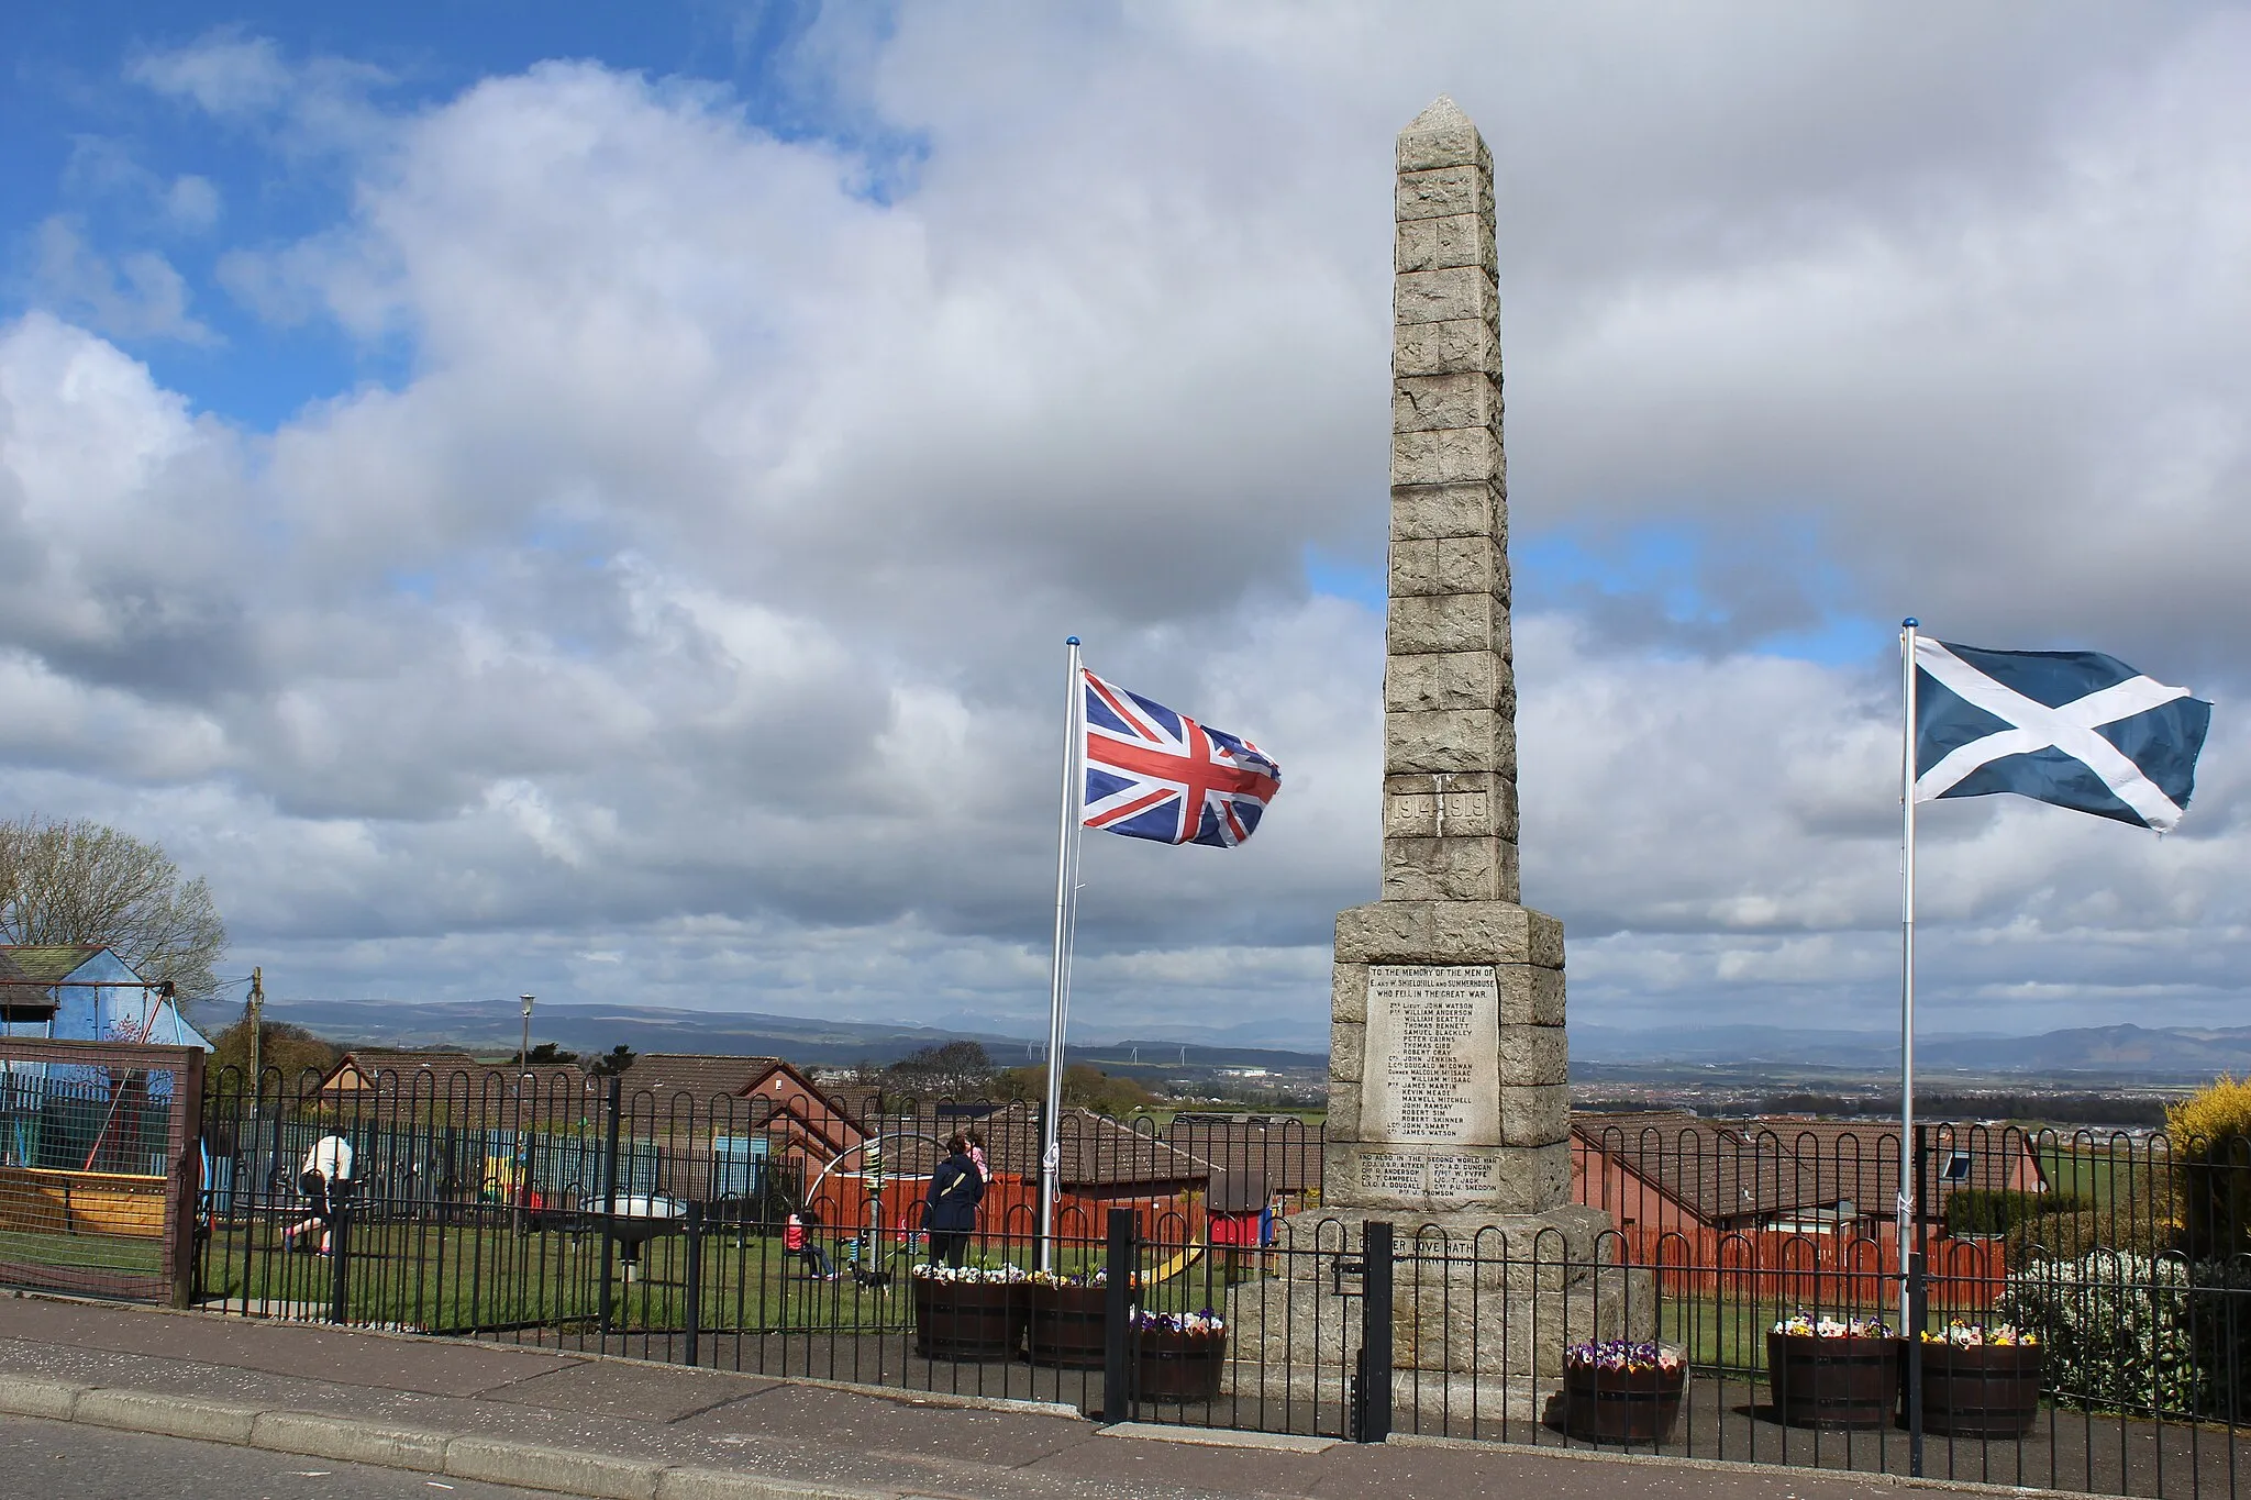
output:
<instances>
[{"instance_id":1,"label":"distant blue-grey hills on horizon left of the stone obelisk","mask_svg":"<svg viewBox=\"0 0 2251 1500\"><path fill-rule=\"evenodd\" d=\"M344 1046L455 1046L468 1052L515 1052L522 1012L513 1005L459 1001L272 1001L272 1021L304 1025ZM216 1016L198 1016L214 1021ZM218 1021L225 1025L225 1021ZM1002 1066L1038 1061L1035 1046L1002 1032L943 1030L887 1021L826 1021L754 1010L673 1010L662 1005L542 1003L531 1016L531 1041L554 1041L572 1052L608 1052L624 1041L635 1052L738 1052L788 1057L813 1066L889 1064L916 1048L981 1041ZM1240 1048L1182 1041L1076 1043L1074 1055L1103 1066L1155 1073L1184 1068L1326 1068L1317 1052ZM1112 1070L1116 1070L1112 1066Z\"/></svg>"}]
</instances>

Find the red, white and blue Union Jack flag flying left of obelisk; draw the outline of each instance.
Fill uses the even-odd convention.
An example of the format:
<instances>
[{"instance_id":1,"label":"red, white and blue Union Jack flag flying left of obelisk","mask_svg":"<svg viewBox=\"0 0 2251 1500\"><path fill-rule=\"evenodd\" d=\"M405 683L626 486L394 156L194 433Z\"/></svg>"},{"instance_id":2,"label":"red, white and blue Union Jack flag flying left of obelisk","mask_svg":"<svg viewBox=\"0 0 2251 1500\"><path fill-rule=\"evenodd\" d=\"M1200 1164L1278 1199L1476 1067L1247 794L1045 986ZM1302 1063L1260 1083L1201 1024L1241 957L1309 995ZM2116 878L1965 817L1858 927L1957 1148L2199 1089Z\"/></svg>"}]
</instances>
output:
<instances>
[{"instance_id":1,"label":"red, white and blue Union Jack flag flying left of obelisk","mask_svg":"<svg viewBox=\"0 0 2251 1500\"><path fill-rule=\"evenodd\" d=\"M1087 722L1087 828L1157 843L1234 848L1281 792L1256 744L1080 670Z\"/></svg>"}]
</instances>

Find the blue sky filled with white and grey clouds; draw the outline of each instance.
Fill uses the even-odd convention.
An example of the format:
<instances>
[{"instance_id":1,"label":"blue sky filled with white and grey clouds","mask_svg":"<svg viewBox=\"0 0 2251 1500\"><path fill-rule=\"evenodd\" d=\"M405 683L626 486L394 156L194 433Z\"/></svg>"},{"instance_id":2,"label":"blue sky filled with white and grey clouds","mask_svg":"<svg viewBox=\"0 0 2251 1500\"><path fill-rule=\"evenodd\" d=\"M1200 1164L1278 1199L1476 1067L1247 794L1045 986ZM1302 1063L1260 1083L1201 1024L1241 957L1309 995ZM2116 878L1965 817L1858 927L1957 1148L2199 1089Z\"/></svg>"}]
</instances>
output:
<instances>
[{"instance_id":1,"label":"blue sky filled with white and grey clouds","mask_svg":"<svg viewBox=\"0 0 2251 1500\"><path fill-rule=\"evenodd\" d=\"M1321 1046L1443 90L1573 1021L1893 1023L1902 614L2217 704L2163 841L1927 810L1927 1025L2251 1021L2251 13L572 9L0 40L0 812L223 972L1031 1032L1076 632L1288 785L1089 841L1074 1025Z\"/></svg>"}]
</instances>

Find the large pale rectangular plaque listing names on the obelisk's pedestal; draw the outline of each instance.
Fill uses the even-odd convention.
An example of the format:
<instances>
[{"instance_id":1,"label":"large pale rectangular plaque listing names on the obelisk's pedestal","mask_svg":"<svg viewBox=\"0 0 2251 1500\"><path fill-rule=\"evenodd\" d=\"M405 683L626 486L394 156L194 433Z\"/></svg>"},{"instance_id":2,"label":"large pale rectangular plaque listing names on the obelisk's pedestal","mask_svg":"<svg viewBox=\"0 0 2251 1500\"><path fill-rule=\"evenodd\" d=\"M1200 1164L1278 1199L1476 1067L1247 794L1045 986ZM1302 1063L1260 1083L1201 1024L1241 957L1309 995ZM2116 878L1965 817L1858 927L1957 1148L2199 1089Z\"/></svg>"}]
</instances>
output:
<instances>
[{"instance_id":1,"label":"large pale rectangular plaque listing names on the obelisk's pedestal","mask_svg":"<svg viewBox=\"0 0 2251 1500\"><path fill-rule=\"evenodd\" d=\"M1373 965L1366 1138L1499 1145L1499 1034L1492 965Z\"/></svg>"}]
</instances>

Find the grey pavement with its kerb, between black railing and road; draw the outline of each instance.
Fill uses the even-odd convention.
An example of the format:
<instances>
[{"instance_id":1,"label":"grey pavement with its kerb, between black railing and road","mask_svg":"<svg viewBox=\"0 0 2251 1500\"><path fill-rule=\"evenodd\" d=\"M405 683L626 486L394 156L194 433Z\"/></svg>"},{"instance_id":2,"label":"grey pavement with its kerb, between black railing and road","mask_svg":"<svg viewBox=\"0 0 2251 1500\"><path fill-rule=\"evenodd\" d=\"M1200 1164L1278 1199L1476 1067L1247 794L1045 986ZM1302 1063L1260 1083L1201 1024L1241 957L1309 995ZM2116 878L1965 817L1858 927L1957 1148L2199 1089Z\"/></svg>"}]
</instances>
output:
<instances>
[{"instance_id":1,"label":"grey pavement with its kerb, between black railing and road","mask_svg":"<svg viewBox=\"0 0 2251 1500\"><path fill-rule=\"evenodd\" d=\"M1202 1435L1103 1428L1029 1403L45 1298L0 1298L0 1412L113 1428L99 1444L162 1433L324 1460L306 1469L367 1460L446 1484L626 1500L1868 1500L1902 1487L1472 1442L1180 1442ZM182 1460L169 1493L252 1493L218 1478L241 1453L212 1453L212 1469Z\"/></svg>"}]
</instances>

